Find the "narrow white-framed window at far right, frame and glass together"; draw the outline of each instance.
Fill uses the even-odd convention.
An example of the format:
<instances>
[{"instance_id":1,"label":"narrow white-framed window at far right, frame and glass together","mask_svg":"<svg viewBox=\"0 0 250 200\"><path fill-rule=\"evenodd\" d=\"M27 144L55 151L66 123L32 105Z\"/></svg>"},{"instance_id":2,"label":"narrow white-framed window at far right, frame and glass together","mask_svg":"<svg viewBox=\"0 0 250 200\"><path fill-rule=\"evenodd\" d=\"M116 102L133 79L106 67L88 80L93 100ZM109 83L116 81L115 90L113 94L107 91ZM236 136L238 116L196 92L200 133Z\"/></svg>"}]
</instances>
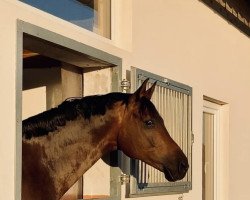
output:
<instances>
[{"instance_id":1,"label":"narrow white-framed window at far right, frame and glass together","mask_svg":"<svg viewBox=\"0 0 250 200\"><path fill-rule=\"evenodd\" d=\"M229 105L203 99L202 199L228 199Z\"/></svg>"}]
</instances>

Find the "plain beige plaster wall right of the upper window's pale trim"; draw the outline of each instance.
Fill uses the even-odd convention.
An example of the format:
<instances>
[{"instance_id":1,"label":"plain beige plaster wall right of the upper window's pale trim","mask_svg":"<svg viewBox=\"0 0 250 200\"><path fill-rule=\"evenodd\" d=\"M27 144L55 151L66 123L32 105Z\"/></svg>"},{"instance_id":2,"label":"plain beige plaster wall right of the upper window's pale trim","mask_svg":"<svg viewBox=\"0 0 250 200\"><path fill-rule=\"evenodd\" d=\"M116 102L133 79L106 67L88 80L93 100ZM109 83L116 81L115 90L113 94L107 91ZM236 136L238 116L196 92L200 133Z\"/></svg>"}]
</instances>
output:
<instances>
[{"instance_id":1,"label":"plain beige plaster wall right of the upper window's pale trim","mask_svg":"<svg viewBox=\"0 0 250 200\"><path fill-rule=\"evenodd\" d=\"M199 1L133 1L133 65L193 87L194 185L184 199L201 199L203 95L229 103L229 199L249 199L249 53L249 38Z\"/></svg>"}]
</instances>

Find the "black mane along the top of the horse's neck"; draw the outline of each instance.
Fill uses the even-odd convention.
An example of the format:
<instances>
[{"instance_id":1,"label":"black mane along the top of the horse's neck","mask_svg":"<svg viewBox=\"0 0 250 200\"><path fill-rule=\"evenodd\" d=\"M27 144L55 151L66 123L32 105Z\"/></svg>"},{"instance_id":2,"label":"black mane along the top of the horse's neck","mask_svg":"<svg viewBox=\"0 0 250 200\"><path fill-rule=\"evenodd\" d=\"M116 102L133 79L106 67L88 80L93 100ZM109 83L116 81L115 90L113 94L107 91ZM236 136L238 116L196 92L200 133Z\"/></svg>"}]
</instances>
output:
<instances>
[{"instance_id":1,"label":"black mane along the top of the horse's neck","mask_svg":"<svg viewBox=\"0 0 250 200\"><path fill-rule=\"evenodd\" d=\"M117 101L128 103L129 94L109 93L106 95L70 98L58 107L23 120L22 135L25 139L48 135L56 131L59 126L65 126L78 116L90 119L91 116L104 115Z\"/></svg>"}]
</instances>

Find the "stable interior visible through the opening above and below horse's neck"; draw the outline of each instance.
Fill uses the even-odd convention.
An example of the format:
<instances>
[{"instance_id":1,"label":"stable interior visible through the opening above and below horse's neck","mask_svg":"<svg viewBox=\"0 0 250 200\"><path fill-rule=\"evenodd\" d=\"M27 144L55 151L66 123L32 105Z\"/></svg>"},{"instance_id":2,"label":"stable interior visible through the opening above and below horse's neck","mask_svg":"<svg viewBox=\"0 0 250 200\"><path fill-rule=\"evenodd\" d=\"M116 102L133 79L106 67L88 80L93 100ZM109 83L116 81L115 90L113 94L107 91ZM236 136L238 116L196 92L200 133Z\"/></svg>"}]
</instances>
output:
<instances>
[{"instance_id":1,"label":"stable interior visible through the opening above and below horse's neck","mask_svg":"<svg viewBox=\"0 0 250 200\"><path fill-rule=\"evenodd\" d=\"M113 84L117 84L118 73L116 65L112 63L26 34L23 42L23 119L55 107L68 97L103 94L117 88ZM99 160L91 172L85 173L69 189L62 200L69 197L117 199L116 188L119 183L113 180L113 177L118 176L116 166L117 154L112 153ZM102 180L98 188L96 175L98 180ZM101 187L104 182L107 185L105 190Z\"/></svg>"}]
</instances>

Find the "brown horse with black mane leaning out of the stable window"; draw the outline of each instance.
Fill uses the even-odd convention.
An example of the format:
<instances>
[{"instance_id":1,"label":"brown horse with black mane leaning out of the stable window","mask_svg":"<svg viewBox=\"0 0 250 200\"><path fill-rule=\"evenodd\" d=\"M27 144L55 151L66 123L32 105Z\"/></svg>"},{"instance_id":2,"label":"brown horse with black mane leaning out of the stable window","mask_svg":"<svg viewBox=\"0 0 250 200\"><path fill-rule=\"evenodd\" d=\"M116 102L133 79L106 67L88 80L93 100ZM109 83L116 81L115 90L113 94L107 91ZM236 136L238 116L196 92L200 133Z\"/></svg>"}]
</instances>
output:
<instances>
[{"instance_id":1,"label":"brown horse with black mane leaning out of the stable window","mask_svg":"<svg viewBox=\"0 0 250 200\"><path fill-rule=\"evenodd\" d=\"M134 93L65 100L23 120L22 200L58 200L105 154L121 150L162 171L186 175L188 159L150 101L156 82Z\"/></svg>"}]
</instances>

